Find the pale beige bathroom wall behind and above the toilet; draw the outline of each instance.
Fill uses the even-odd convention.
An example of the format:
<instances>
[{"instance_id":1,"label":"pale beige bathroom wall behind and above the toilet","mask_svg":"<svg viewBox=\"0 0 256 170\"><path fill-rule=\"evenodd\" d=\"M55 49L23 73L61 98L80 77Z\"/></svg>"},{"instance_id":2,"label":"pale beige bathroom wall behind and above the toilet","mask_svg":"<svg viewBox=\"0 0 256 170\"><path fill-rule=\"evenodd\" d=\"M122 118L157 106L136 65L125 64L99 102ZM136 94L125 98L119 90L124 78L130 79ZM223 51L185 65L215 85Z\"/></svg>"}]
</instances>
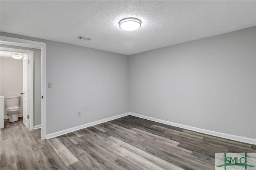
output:
<instances>
[{"instance_id":1,"label":"pale beige bathroom wall behind and above the toilet","mask_svg":"<svg viewBox=\"0 0 256 170\"><path fill-rule=\"evenodd\" d=\"M22 114L23 60L12 57L0 57L0 96L20 96L20 111ZM6 109L4 109L6 116Z\"/></svg>"}]
</instances>

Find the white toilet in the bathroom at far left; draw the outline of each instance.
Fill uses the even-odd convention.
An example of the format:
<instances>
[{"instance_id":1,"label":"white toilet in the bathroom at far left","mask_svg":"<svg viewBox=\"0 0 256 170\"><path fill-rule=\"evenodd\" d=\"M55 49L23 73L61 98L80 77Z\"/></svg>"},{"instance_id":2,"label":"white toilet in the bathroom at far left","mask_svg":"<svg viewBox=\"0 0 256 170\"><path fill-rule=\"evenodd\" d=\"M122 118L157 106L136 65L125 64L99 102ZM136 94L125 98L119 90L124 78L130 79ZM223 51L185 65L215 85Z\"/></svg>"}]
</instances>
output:
<instances>
[{"instance_id":1,"label":"white toilet in the bathroom at far left","mask_svg":"<svg viewBox=\"0 0 256 170\"><path fill-rule=\"evenodd\" d=\"M20 96L4 97L4 103L9 122L18 121L18 112L20 111Z\"/></svg>"}]
</instances>

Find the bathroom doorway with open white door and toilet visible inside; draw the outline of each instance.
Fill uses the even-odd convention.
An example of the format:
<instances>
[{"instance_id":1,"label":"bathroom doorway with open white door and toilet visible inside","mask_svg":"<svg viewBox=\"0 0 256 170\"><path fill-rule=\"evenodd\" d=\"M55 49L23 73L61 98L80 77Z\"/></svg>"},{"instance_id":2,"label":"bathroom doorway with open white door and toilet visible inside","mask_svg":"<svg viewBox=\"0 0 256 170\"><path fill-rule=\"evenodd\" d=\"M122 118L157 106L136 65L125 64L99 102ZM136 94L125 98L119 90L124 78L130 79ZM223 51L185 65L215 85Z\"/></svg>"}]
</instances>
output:
<instances>
[{"instance_id":1,"label":"bathroom doorway with open white door and toilet visible inside","mask_svg":"<svg viewBox=\"0 0 256 170\"><path fill-rule=\"evenodd\" d=\"M22 117L24 126L33 130L34 51L10 45L2 47L1 45L0 61L0 96L4 96L4 119L8 119L4 122L16 122L19 120L18 117ZM37 69L40 70L40 68ZM40 111L40 109L38 110ZM35 116L35 118L40 118L40 115Z\"/></svg>"}]
</instances>

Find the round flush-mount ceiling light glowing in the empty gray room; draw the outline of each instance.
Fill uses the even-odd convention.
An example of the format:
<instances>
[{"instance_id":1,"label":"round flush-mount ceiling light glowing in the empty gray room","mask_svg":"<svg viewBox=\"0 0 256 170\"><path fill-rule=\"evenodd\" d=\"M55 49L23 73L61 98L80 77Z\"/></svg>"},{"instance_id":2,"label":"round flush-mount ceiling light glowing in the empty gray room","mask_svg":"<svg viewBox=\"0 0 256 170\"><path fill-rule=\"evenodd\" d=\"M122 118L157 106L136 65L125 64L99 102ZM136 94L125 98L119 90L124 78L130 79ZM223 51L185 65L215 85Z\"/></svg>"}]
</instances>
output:
<instances>
[{"instance_id":1,"label":"round flush-mount ceiling light glowing in the empty gray room","mask_svg":"<svg viewBox=\"0 0 256 170\"><path fill-rule=\"evenodd\" d=\"M124 18L118 22L122 30L134 31L138 30L141 26L141 20L138 18Z\"/></svg>"}]
</instances>

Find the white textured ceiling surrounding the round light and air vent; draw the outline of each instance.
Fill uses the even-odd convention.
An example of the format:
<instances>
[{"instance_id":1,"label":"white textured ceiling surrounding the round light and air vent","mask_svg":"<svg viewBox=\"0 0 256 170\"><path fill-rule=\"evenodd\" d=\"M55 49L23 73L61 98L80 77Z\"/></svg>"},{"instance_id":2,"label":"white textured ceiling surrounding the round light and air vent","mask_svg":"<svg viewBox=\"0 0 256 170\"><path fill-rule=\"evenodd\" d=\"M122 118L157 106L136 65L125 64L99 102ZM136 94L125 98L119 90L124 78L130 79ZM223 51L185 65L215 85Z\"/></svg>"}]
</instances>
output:
<instances>
[{"instance_id":1,"label":"white textured ceiling surrounding the round light and air vent","mask_svg":"<svg viewBox=\"0 0 256 170\"><path fill-rule=\"evenodd\" d=\"M2 32L126 55L256 26L256 1L1 0L0 8ZM126 17L141 28L121 30Z\"/></svg>"}]
</instances>

